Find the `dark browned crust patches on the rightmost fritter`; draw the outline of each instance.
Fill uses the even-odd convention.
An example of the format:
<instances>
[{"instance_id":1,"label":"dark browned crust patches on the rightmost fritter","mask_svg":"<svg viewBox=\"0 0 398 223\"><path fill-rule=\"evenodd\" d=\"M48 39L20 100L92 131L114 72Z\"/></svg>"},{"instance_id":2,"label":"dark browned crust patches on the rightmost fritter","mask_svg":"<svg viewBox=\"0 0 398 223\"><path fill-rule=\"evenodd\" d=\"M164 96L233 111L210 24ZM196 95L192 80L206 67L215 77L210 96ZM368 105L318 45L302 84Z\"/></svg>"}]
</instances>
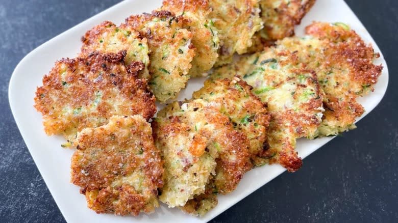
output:
<instances>
[{"instance_id":1,"label":"dark browned crust patches on the rightmost fritter","mask_svg":"<svg viewBox=\"0 0 398 223\"><path fill-rule=\"evenodd\" d=\"M356 85L374 91L373 86L378 81L383 70L382 65L375 65L374 58L380 57L374 49L367 45L353 30L344 29L342 26L331 25L324 22L314 22L306 27L306 33L321 40L329 40L322 49L325 63L336 67L347 67L349 79ZM366 94L364 90L355 92L347 90L344 100L342 95L325 91L327 101L325 118L338 121L340 126L350 126L357 117L364 113L364 108L356 101L359 95Z\"/></svg>"}]
</instances>

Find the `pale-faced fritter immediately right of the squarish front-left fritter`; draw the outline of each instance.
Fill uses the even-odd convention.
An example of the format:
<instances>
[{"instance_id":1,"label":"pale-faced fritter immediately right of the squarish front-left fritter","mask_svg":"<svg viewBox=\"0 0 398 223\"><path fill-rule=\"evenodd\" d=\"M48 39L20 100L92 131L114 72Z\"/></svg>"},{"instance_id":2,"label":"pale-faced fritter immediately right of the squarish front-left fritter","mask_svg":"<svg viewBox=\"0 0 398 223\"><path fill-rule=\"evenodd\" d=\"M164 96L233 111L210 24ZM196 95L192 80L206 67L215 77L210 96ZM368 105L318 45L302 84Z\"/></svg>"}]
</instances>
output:
<instances>
[{"instance_id":1,"label":"pale-faced fritter immediately right of the squarish front-left fritter","mask_svg":"<svg viewBox=\"0 0 398 223\"><path fill-rule=\"evenodd\" d=\"M155 145L165 162L165 184L159 200L169 207L183 206L195 194L204 192L209 177L214 174L218 156L213 148L206 150L209 143L204 135L196 132L197 127L181 120L188 117L172 115L179 110L182 109L178 103L172 103L159 111L152 122ZM166 116L169 112L171 114Z\"/></svg>"}]
</instances>

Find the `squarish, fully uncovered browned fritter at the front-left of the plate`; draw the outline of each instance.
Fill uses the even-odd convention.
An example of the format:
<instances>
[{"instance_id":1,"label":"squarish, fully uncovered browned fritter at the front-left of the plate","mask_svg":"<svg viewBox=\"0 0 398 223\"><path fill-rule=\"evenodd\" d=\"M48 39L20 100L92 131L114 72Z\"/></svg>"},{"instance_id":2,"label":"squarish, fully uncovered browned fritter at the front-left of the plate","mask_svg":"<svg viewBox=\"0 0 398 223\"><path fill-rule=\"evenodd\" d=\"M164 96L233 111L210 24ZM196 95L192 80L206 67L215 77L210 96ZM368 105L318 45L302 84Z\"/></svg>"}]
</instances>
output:
<instances>
[{"instance_id":1,"label":"squarish, fully uncovered browned fritter at the front-left of the plate","mask_svg":"<svg viewBox=\"0 0 398 223\"><path fill-rule=\"evenodd\" d=\"M138 215L159 206L163 166L151 125L139 115L113 116L78 133L71 182L97 213Z\"/></svg>"}]
</instances>

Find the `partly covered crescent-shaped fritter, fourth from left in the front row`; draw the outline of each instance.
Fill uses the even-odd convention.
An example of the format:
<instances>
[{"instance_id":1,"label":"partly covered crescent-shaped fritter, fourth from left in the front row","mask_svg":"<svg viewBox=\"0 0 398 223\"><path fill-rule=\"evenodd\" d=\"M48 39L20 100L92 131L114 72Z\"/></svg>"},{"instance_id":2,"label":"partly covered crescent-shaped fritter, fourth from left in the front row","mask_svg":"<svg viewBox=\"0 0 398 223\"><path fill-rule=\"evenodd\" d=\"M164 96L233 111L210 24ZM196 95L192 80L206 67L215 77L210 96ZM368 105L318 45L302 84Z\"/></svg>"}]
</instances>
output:
<instances>
[{"instance_id":1,"label":"partly covered crescent-shaped fritter, fourth from left in the front row","mask_svg":"<svg viewBox=\"0 0 398 223\"><path fill-rule=\"evenodd\" d=\"M262 165L268 158L266 140L270 116L251 90L251 86L237 77L208 79L202 89L193 93L193 98L218 103L222 114L227 115L235 129L250 141L249 153L253 163Z\"/></svg>"}]
</instances>

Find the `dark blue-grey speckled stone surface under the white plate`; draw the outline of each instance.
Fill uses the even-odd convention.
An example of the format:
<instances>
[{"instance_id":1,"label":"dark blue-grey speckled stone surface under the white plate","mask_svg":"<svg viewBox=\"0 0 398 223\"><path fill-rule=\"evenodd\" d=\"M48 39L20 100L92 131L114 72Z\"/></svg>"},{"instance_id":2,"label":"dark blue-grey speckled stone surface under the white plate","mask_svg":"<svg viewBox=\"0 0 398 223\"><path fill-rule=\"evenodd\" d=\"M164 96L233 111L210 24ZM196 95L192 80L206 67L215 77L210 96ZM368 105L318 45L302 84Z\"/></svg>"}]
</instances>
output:
<instances>
[{"instance_id":1,"label":"dark blue-grey speckled stone surface under the white plate","mask_svg":"<svg viewBox=\"0 0 398 223\"><path fill-rule=\"evenodd\" d=\"M0 1L0 222L65 221L12 117L13 69L35 47L117 2ZM282 174L213 222L398 222L398 1L346 2L385 55L385 98L299 172Z\"/></svg>"}]
</instances>

